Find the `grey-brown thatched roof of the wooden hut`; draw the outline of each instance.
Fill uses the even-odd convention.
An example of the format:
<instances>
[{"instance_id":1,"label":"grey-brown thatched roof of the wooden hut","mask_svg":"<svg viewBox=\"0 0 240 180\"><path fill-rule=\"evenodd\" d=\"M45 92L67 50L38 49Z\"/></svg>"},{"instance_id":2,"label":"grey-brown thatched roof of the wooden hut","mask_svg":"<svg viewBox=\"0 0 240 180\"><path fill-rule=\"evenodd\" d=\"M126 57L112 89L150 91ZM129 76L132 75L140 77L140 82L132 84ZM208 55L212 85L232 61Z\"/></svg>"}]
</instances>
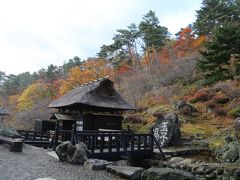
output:
<instances>
[{"instance_id":1,"label":"grey-brown thatched roof of the wooden hut","mask_svg":"<svg viewBox=\"0 0 240 180\"><path fill-rule=\"evenodd\" d=\"M134 110L135 107L125 101L114 89L112 81L102 78L77 87L59 99L51 102L50 108L86 108L94 107L111 110Z\"/></svg>"}]
</instances>

